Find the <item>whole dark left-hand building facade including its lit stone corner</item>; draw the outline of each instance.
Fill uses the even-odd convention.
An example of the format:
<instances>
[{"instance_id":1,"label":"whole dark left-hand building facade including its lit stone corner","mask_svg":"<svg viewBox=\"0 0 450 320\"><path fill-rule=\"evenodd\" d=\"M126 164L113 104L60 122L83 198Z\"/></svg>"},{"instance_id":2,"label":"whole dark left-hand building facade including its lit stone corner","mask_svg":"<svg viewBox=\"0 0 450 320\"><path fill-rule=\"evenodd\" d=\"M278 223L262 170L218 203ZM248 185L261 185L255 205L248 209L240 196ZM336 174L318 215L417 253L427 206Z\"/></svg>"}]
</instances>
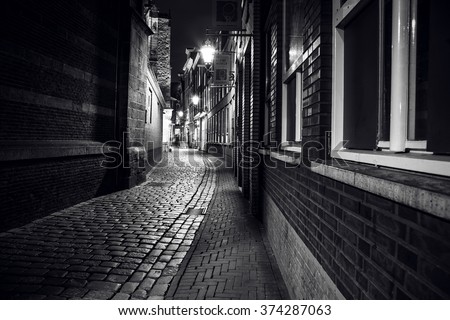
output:
<instances>
[{"instance_id":1,"label":"whole dark left-hand building facade including its lit stone corner","mask_svg":"<svg viewBox=\"0 0 450 320\"><path fill-rule=\"evenodd\" d=\"M144 181L165 107L145 3L20 1L3 13L1 230Z\"/></svg>"}]
</instances>

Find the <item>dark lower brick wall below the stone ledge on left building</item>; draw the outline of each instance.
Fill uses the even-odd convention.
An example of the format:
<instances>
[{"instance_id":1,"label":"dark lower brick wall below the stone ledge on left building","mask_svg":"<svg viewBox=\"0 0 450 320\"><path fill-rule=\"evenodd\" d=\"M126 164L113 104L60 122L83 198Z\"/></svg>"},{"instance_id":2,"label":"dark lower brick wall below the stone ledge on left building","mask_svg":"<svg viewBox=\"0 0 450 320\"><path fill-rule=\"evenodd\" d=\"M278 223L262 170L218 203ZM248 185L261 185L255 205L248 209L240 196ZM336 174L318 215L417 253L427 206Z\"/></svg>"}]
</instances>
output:
<instances>
[{"instance_id":1,"label":"dark lower brick wall below the stone ledge on left building","mask_svg":"<svg viewBox=\"0 0 450 320\"><path fill-rule=\"evenodd\" d=\"M115 170L103 156L2 162L0 231L114 191Z\"/></svg>"}]
</instances>

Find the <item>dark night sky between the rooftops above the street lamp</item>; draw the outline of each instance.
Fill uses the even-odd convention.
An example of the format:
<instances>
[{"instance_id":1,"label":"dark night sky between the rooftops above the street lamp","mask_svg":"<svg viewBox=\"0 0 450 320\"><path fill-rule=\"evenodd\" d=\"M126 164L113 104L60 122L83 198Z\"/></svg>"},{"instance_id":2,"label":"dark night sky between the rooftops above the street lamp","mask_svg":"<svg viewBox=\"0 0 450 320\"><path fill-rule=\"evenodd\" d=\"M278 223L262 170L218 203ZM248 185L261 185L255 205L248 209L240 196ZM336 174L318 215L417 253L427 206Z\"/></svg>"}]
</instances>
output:
<instances>
[{"instance_id":1,"label":"dark night sky between the rooftops above the street lamp","mask_svg":"<svg viewBox=\"0 0 450 320\"><path fill-rule=\"evenodd\" d=\"M211 27L212 0L156 0L162 13L172 15L172 81L178 81L177 74L186 62L185 50L199 48L205 40L206 28Z\"/></svg>"}]
</instances>

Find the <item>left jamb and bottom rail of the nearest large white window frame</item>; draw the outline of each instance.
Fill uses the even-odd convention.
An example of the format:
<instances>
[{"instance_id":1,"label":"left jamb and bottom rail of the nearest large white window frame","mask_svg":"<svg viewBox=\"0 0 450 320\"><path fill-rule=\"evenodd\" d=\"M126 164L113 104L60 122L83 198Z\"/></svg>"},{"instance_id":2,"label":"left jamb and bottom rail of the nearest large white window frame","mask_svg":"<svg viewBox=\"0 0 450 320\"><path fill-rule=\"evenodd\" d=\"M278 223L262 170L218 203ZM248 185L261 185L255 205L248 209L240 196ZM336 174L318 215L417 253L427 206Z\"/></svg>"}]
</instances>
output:
<instances>
[{"instance_id":1,"label":"left jamb and bottom rail of the nearest large white window frame","mask_svg":"<svg viewBox=\"0 0 450 320\"><path fill-rule=\"evenodd\" d=\"M426 142L408 141L397 150L392 147L392 141L382 141L380 148L390 148L388 151L367 151L346 149L344 141L344 30L341 26L357 14L370 0L348 0L341 7L340 0L333 0L333 93L332 93L332 138L331 155L334 158L362 162L375 166L386 166L415 172L450 176L450 156L433 155L430 152L410 151L398 153L405 148L422 149ZM407 118L406 118L406 121ZM392 134L391 134L392 140Z\"/></svg>"}]
</instances>

